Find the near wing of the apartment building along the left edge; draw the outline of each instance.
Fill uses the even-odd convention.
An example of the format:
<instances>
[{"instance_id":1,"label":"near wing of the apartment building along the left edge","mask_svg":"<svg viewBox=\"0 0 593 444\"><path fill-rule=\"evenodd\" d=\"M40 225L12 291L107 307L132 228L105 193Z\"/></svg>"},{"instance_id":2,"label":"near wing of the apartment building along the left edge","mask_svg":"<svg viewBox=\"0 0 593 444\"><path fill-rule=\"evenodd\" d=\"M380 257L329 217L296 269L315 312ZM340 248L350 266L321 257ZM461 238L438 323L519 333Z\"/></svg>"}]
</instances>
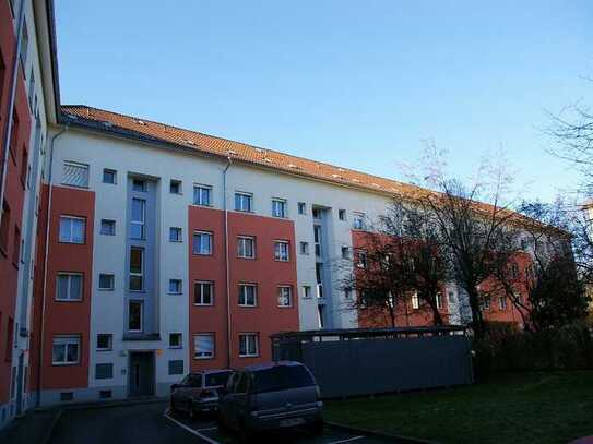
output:
<instances>
[{"instance_id":1,"label":"near wing of the apartment building along the left edge","mask_svg":"<svg viewBox=\"0 0 593 444\"><path fill-rule=\"evenodd\" d=\"M0 428L29 400L39 183L56 123L51 14L45 1L0 1Z\"/></svg>"}]
</instances>

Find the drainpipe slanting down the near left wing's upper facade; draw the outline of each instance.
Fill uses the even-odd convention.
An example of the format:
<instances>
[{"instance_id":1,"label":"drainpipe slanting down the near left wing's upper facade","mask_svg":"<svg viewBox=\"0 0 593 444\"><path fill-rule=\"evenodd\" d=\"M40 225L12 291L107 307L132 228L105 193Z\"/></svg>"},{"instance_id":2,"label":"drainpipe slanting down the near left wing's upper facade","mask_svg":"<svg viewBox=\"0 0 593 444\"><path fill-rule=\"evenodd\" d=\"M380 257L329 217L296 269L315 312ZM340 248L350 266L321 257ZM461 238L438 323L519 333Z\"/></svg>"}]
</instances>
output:
<instances>
[{"instance_id":1,"label":"drainpipe slanting down the near left wing's upper facade","mask_svg":"<svg viewBox=\"0 0 593 444\"><path fill-rule=\"evenodd\" d=\"M21 41L23 39L23 23L25 21L25 1L22 0L19 7L19 19L16 24L16 43L14 44L14 60L12 63L12 73L10 77L9 109L7 115L7 124L4 128L4 141L2 146L2 168L0 168L0 224L4 212L1 205L4 202L4 191L7 182L7 170L9 165L9 144L12 136L12 121L14 116L14 101L16 99L16 80L19 79L19 63L21 60Z\"/></svg>"}]
</instances>

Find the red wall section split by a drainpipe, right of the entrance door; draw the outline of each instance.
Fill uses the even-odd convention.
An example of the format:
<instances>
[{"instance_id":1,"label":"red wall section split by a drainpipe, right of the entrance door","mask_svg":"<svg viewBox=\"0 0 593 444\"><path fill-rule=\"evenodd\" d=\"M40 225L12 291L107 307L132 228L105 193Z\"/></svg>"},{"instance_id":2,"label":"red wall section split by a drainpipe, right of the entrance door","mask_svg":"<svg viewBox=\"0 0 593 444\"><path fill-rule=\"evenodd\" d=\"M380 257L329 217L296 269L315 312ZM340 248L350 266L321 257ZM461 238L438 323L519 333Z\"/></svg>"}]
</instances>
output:
<instances>
[{"instance_id":1,"label":"red wall section split by a drainpipe, right of the entrance door","mask_svg":"<svg viewBox=\"0 0 593 444\"><path fill-rule=\"evenodd\" d=\"M211 231L214 236L214 250L211 256L192 253L193 231ZM224 256L224 212L211 208L189 207L189 283L190 289L190 362L191 369L226 368L227 362L227 295ZM285 219L256 216L251 214L228 213L228 260L230 289L230 367L241 368L272 359L270 335L281 331L298 329L298 293L295 256L294 223ZM256 238L256 259L237 257L237 237ZM274 260L274 241L289 242L289 261ZM193 283L212 280L215 286L213 307L193 304ZM257 307L238 304L238 286L241 283L258 285ZM290 308L277 304L277 287L292 286ZM214 359L193 359L193 335L214 333L216 350ZM239 334L259 335L259 356L239 357Z\"/></svg>"}]
</instances>

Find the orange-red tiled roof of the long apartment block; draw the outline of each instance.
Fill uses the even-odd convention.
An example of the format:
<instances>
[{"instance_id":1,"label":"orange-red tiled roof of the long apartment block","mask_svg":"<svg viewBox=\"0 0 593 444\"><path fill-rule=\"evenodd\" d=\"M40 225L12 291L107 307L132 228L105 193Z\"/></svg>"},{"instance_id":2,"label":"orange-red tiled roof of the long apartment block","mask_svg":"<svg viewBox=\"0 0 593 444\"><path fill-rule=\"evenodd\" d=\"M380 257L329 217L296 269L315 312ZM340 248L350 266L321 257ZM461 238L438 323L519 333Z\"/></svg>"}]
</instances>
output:
<instances>
[{"instance_id":1,"label":"orange-red tiled roof of the long apartment block","mask_svg":"<svg viewBox=\"0 0 593 444\"><path fill-rule=\"evenodd\" d=\"M426 191L395 180L87 106L64 105L62 113L70 122L83 121L102 131L123 130L132 136L147 137L154 142L175 144L202 154L230 157L233 160L321 179L341 185L402 196L412 196L420 191Z\"/></svg>"}]
</instances>

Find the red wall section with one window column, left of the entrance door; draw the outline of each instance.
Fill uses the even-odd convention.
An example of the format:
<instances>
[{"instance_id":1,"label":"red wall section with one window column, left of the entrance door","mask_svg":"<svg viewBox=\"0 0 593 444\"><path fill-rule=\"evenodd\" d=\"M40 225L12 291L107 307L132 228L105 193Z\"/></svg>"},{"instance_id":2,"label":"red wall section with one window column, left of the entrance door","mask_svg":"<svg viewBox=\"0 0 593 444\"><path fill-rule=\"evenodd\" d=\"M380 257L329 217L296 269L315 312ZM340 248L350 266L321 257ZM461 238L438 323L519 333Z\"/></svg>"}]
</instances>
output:
<instances>
[{"instance_id":1,"label":"red wall section with one window column, left of the entrance door","mask_svg":"<svg viewBox=\"0 0 593 444\"><path fill-rule=\"evenodd\" d=\"M45 336L41 389L80 388L88 386L88 347L91 325L91 289L93 285L93 220L95 193L64 187L52 187L51 215L49 219L49 256L45 295ZM60 243L60 216L86 219L85 243ZM82 273L82 301L56 300L56 283L59 272ZM36 295L40 298L41 295ZM36 307L38 304L36 303ZM35 313L36 317L39 313ZM56 335L80 335L80 362L74 365L52 365L51 343ZM38 345L37 345L38 347ZM38 349L32 350L32 355Z\"/></svg>"}]
</instances>

